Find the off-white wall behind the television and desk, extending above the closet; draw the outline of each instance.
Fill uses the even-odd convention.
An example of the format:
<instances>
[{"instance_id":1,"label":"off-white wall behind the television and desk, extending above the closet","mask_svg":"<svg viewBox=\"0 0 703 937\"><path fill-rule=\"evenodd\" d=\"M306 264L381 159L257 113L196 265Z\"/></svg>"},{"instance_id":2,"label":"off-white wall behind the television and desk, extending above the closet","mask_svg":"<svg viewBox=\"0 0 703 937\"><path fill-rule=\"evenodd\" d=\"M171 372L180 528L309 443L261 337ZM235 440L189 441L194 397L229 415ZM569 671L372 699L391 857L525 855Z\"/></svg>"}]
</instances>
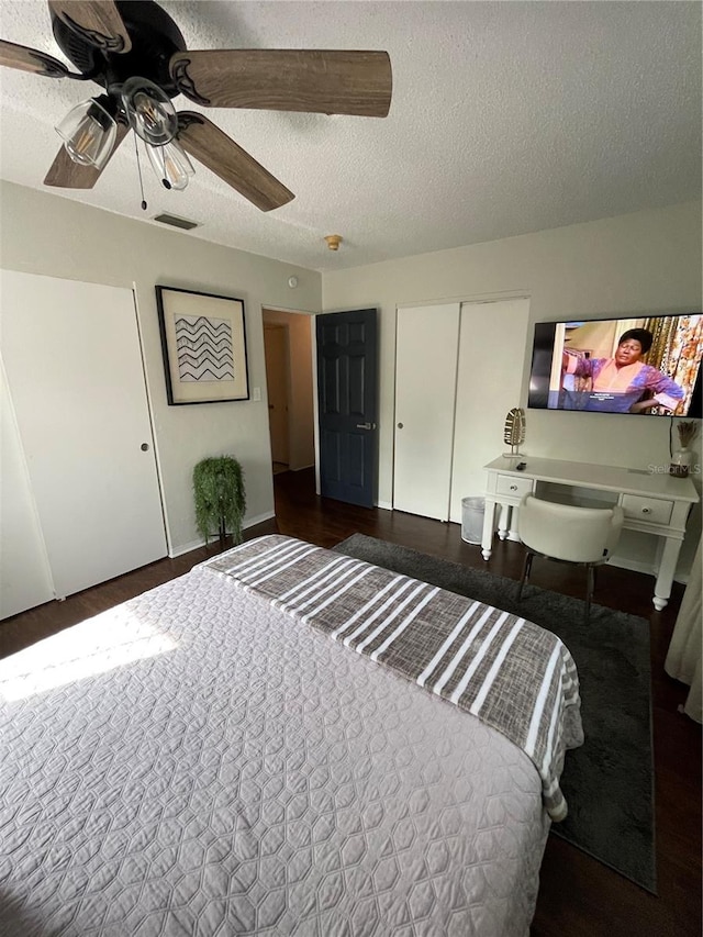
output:
<instances>
[{"instance_id":1,"label":"off-white wall behind the television and desk, extending above the closet","mask_svg":"<svg viewBox=\"0 0 703 937\"><path fill-rule=\"evenodd\" d=\"M700 310L701 203L325 274L325 312L379 309L380 504L392 503L397 306L515 295L529 298L531 335L538 321ZM482 349L495 362L496 382L507 370L522 375L523 395L515 406L526 406L529 345L522 355L506 356L501 335L494 334ZM476 388L477 394L490 390ZM523 448L531 455L647 469L668 465L669 430L667 419L529 410ZM470 432L490 436L495 454L502 451L502 421L478 419ZM690 568L695 544L689 542L698 540L700 509L689 526L682 568ZM644 539L632 544L632 555L646 567L654 544Z\"/></svg>"}]
</instances>

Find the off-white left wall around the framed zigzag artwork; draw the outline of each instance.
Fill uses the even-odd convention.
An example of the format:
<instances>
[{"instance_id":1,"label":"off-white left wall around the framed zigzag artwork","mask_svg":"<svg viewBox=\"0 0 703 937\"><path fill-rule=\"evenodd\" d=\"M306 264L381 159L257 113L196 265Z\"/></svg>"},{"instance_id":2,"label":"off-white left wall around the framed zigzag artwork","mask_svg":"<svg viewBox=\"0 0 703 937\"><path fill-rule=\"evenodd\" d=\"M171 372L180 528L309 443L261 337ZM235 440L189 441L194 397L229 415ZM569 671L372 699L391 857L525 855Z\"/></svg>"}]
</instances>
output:
<instances>
[{"instance_id":1,"label":"off-white left wall around the framed zigzag artwork","mask_svg":"<svg viewBox=\"0 0 703 937\"><path fill-rule=\"evenodd\" d=\"M135 286L146 380L164 487L169 551L196 546L192 468L205 456L234 455L244 468L245 524L274 515L261 305L316 312L321 276L221 247L192 234L125 219L70 199L0 185L0 266L111 286ZM298 278L294 294L288 286ZM181 287L244 300L249 389L263 399L168 406L154 287ZM105 348L105 354L110 349Z\"/></svg>"}]
</instances>

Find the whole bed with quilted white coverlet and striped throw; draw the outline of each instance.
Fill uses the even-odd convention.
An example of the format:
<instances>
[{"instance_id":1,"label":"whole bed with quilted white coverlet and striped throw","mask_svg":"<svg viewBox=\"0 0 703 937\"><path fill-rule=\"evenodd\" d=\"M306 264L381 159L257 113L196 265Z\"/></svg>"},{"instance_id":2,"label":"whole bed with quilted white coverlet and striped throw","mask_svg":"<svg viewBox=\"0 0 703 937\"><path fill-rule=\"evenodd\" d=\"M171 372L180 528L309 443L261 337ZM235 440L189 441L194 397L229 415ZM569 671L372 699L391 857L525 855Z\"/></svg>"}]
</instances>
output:
<instances>
[{"instance_id":1,"label":"whole bed with quilted white coverlet and striped throw","mask_svg":"<svg viewBox=\"0 0 703 937\"><path fill-rule=\"evenodd\" d=\"M0 698L23 937L525 937L582 741L554 635L278 535L0 661Z\"/></svg>"}]
</instances>

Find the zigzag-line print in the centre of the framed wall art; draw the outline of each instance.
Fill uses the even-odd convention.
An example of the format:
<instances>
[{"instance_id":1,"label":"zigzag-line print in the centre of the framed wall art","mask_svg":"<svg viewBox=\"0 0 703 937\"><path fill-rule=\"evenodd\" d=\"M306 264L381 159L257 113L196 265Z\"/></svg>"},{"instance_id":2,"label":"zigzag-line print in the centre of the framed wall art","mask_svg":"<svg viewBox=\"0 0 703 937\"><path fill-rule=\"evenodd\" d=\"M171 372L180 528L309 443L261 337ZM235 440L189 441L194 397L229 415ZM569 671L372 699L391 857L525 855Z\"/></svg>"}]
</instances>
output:
<instances>
[{"instance_id":1,"label":"zigzag-line print in the centre of the framed wall art","mask_svg":"<svg viewBox=\"0 0 703 937\"><path fill-rule=\"evenodd\" d=\"M232 324L209 315L180 315L174 320L178 377L181 381L233 381Z\"/></svg>"}]
</instances>

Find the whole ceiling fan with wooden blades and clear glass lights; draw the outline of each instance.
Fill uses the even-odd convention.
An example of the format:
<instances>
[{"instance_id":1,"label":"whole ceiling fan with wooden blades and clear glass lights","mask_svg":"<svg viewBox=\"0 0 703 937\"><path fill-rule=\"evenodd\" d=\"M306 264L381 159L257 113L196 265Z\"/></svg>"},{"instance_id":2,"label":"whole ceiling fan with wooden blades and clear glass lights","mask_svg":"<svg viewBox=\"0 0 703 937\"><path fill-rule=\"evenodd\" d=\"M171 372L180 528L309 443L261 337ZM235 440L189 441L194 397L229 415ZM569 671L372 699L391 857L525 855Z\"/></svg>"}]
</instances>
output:
<instances>
[{"instance_id":1,"label":"whole ceiling fan with wooden blades and clear glass lights","mask_svg":"<svg viewBox=\"0 0 703 937\"><path fill-rule=\"evenodd\" d=\"M102 93L75 107L44 183L91 189L130 130L144 141L166 188L183 189L189 159L207 166L261 211L294 198L267 169L198 111L256 108L384 118L392 76L386 52L207 49L193 52L154 0L48 0L54 37L69 62L0 40L0 65L49 78L94 81Z\"/></svg>"}]
</instances>

